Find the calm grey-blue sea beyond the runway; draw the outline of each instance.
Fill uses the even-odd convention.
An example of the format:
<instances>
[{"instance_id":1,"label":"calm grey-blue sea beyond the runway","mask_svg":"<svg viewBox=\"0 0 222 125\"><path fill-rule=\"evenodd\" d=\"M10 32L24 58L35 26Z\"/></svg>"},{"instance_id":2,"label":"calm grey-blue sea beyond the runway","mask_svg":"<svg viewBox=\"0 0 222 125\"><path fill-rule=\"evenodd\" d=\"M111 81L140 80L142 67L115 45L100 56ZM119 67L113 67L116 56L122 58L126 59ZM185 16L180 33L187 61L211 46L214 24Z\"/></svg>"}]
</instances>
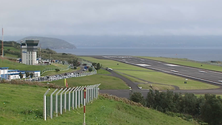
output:
<instances>
[{"instance_id":1,"label":"calm grey-blue sea beyond the runway","mask_svg":"<svg viewBox=\"0 0 222 125\"><path fill-rule=\"evenodd\" d=\"M77 49L55 49L58 53L71 53L82 55L128 55L128 56L151 56L186 58L194 61L222 61L222 47L78 47Z\"/></svg>"}]
</instances>

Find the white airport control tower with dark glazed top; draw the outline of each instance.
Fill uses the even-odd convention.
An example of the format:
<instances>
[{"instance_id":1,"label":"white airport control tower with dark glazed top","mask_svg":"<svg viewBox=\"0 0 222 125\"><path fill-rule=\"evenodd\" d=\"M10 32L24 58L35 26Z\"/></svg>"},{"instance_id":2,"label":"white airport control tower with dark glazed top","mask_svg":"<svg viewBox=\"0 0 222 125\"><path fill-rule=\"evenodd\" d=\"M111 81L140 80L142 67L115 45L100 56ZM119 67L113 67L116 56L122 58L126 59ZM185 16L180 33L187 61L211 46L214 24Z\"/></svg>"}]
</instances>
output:
<instances>
[{"instance_id":1,"label":"white airport control tower with dark glazed top","mask_svg":"<svg viewBox=\"0 0 222 125\"><path fill-rule=\"evenodd\" d=\"M39 40L25 40L21 43L22 63L36 65Z\"/></svg>"}]
</instances>

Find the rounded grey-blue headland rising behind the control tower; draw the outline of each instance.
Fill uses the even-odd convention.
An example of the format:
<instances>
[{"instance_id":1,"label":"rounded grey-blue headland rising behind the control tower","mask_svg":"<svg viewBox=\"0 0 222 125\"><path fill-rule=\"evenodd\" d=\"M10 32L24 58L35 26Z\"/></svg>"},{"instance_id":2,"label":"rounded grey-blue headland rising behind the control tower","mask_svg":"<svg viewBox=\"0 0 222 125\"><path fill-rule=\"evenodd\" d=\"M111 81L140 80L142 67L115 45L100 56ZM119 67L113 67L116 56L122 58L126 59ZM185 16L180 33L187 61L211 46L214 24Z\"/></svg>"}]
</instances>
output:
<instances>
[{"instance_id":1,"label":"rounded grey-blue headland rising behind the control tower","mask_svg":"<svg viewBox=\"0 0 222 125\"><path fill-rule=\"evenodd\" d=\"M37 39L39 40L39 43L41 44L41 48L49 48L49 49L75 49L75 45L62 40L62 39L57 39L57 38L49 38L49 37L38 37L38 36L29 36L29 37L25 37L20 41L25 41L25 40L33 40L33 39ZM40 46L39 44L39 46Z\"/></svg>"}]
</instances>

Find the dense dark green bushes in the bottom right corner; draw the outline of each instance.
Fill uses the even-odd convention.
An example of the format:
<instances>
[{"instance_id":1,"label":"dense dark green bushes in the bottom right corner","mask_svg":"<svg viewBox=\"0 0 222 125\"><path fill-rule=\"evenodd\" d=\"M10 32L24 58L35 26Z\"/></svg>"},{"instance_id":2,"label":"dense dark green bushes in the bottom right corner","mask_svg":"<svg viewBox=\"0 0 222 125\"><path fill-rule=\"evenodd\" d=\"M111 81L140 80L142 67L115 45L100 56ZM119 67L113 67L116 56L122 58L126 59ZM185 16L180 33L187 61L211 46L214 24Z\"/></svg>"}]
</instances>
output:
<instances>
[{"instance_id":1,"label":"dense dark green bushes in the bottom right corner","mask_svg":"<svg viewBox=\"0 0 222 125\"><path fill-rule=\"evenodd\" d=\"M154 92L150 90L146 99L139 92L132 93L130 99L148 108L171 116L181 116L189 121L196 119L201 124L204 122L210 125L222 124L222 99L213 94L197 97L192 93L182 95L172 91L159 92L155 90Z\"/></svg>"}]
</instances>

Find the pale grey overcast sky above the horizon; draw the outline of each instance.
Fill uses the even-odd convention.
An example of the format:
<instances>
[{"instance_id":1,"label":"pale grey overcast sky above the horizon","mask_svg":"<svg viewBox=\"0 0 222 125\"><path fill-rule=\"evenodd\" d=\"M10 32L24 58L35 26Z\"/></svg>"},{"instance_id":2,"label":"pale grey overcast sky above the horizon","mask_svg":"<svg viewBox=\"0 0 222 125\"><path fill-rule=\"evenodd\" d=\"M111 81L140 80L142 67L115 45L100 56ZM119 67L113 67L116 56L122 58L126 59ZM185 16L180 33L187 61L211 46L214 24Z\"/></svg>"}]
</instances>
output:
<instances>
[{"instance_id":1,"label":"pale grey overcast sky above the horizon","mask_svg":"<svg viewBox=\"0 0 222 125\"><path fill-rule=\"evenodd\" d=\"M5 36L222 35L222 0L0 0Z\"/></svg>"}]
</instances>

